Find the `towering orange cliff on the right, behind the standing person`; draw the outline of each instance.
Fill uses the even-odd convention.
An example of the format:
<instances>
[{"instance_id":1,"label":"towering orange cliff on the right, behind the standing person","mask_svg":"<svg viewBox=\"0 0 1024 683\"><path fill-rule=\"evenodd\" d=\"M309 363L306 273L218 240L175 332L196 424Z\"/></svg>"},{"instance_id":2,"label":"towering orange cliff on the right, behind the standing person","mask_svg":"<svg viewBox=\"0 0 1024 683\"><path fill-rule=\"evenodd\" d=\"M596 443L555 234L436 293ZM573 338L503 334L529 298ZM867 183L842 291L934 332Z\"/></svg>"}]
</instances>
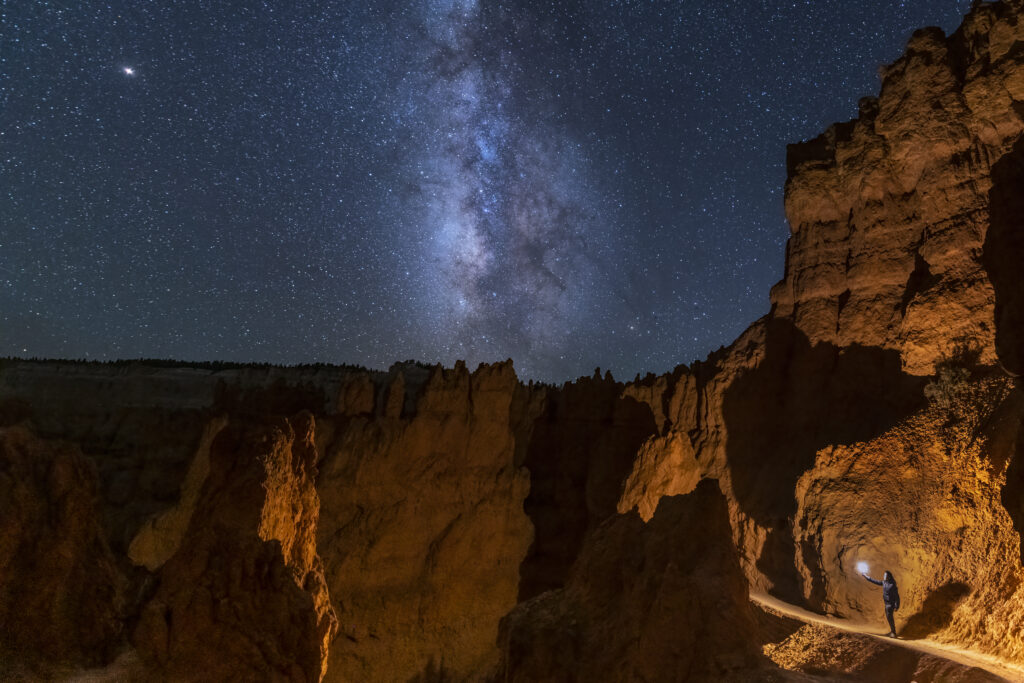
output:
<instances>
[{"instance_id":1,"label":"towering orange cliff on the right, behind the standing person","mask_svg":"<svg viewBox=\"0 0 1024 683\"><path fill-rule=\"evenodd\" d=\"M791 146L772 311L627 387L668 412L620 503L715 477L756 589L877 617L863 554L902 573L911 631L1018 659L1021 14L916 32L858 120Z\"/></svg>"}]
</instances>

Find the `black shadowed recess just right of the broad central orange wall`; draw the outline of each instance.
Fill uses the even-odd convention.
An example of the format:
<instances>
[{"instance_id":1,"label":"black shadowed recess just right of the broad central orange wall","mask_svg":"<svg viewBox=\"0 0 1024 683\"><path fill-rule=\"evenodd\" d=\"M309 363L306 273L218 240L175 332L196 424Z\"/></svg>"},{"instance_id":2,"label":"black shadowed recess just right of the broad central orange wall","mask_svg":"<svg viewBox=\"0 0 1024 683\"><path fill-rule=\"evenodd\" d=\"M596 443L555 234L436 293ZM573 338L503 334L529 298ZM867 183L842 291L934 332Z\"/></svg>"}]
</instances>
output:
<instances>
[{"instance_id":1,"label":"black shadowed recess just right of the broad central orange wall","mask_svg":"<svg viewBox=\"0 0 1024 683\"><path fill-rule=\"evenodd\" d=\"M520 567L519 600L561 587L587 532L616 512L641 444L656 433L646 403L610 377L584 378L548 395L523 465L523 509L534 543Z\"/></svg>"}]
</instances>

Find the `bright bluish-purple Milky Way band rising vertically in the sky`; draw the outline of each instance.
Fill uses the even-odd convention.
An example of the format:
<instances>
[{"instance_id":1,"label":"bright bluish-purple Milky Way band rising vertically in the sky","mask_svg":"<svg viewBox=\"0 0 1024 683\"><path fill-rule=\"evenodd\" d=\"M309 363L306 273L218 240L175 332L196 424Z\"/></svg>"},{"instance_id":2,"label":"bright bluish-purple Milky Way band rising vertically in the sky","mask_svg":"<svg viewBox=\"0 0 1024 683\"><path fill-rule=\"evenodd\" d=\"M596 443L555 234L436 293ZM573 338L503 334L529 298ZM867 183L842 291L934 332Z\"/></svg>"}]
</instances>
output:
<instances>
[{"instance_id":1,"label":"bright bluish-purple Milky Way band rising vertically in the sky","mask_svg":"<svg viewBox=\"0 0 1024 683\"><path fill-rule=\"evenodd\" d=\"M514 350L521 365L557 368L572 335L598 324L594 302L613 298L607 202L571 131L516 100L515 54L492 47L478 3L423 9L406 49L426 68L401 96L421 112L402 201L427 236L424 334L459 357Z\"/></svg>"}]
</instances>

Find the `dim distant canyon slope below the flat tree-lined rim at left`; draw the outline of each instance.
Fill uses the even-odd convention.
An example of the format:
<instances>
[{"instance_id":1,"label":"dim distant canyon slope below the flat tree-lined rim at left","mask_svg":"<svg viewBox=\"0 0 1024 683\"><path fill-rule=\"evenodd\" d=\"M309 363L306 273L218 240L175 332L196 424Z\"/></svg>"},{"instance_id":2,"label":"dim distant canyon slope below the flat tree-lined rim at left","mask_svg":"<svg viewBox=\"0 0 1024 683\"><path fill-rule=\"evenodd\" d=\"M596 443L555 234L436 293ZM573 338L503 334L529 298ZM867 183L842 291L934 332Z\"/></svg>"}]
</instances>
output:
<instances>
[{"instance_id":1,"label":"dim distant canyon slope below the flat tree-lined rim at left","mask_svg":"<svg viewBox=\"0 0 1024 683\"><path fill-rule=\"evenodd\" d=\"M79 445L99 474L103 526L122 554L141 524L177 504L212 420L324 414L356 372L221 365L0 361L0 425L28 422Z\"/></svg>"}]
</instances>

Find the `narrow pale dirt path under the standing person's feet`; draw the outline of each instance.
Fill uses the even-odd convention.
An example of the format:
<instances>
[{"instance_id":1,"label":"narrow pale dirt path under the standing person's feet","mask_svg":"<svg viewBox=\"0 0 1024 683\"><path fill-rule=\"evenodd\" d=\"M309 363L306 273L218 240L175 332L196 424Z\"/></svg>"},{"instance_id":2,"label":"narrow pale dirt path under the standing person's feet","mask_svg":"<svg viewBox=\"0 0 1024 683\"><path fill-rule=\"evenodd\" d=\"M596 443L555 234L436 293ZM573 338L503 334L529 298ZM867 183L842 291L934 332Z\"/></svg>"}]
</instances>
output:
<instances>
[{"instance_id":1,"label":"narrow pale dirt path under the standing person's feet","mask_svg":"<svg viewBox=\"0 0 1024 683\"><path fill-rule=\"evenodd\" d=\"M1011 683L1020 683L1024 681L1024 667L1004 661L995 656L968 651L952 645L939 643L934 640L901 640L898 638L890 638L886 635L888 633L888 629L885 628L885 624L880 627L878 624L858 624L848 620L825 616L823 614L815 614L814 612L797 607L796 605L791 605L787 602L782 602L777 598L765 594L752 593L751 600L766 609L779 612L792 618L804 622L805 624L818 624L860 636L869 636L885 642L887 645L896 645L915 650L918 652L931 654L943 659L955 661L956 664L965 667L977 667L978 669L983 669L994 676L998 676L1006 681L1010 681Z\"/></svg>"}]
</instances>

